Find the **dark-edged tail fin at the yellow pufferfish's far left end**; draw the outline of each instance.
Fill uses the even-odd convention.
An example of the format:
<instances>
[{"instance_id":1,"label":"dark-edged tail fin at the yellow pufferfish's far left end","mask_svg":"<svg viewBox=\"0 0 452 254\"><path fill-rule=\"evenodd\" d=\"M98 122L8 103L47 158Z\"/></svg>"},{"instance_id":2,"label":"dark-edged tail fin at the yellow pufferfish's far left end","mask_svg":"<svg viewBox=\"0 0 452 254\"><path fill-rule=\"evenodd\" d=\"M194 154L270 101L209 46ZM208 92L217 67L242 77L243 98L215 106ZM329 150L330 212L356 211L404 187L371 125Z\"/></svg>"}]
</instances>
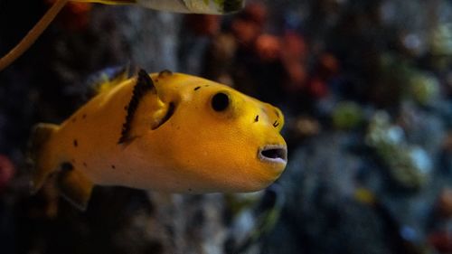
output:
<instances>
[{"instance_id":1,"label":"dark-edged tail fin at the yellow pufferfish's far left end","mask_svg":"<svg viewBox=\"0 0 452 254\"><path fill-rule=\"evenodd\" d=\"M47 177L57 170L49 150L49 141L59 127L52 124L37 124L33 127L29 156L33 163L32 193L41 189Z\"/></svg>"}]
</instances>

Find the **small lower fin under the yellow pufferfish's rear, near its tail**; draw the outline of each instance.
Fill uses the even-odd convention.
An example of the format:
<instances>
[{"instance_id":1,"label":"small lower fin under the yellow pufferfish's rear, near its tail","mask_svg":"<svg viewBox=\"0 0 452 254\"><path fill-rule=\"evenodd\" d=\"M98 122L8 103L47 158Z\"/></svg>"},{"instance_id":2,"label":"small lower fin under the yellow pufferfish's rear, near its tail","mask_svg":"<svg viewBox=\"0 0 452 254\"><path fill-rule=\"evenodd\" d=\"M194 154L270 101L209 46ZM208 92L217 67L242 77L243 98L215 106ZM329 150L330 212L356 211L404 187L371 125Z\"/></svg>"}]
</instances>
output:
<instances>
[{"instance_id":1,"label":"small lower fin under the yellow pufferfish's rear, near its tail","mask_svg":"<svg viewBox=\"0 0 452 254\"><path fill-rule=\"evenodd\" d=\"M66 200L81 211L86 210L93 188L93 183L88 177L73 165L65 164L62 165L61 173L58 175L57 185Z\"/></svg>"}]
</instances>

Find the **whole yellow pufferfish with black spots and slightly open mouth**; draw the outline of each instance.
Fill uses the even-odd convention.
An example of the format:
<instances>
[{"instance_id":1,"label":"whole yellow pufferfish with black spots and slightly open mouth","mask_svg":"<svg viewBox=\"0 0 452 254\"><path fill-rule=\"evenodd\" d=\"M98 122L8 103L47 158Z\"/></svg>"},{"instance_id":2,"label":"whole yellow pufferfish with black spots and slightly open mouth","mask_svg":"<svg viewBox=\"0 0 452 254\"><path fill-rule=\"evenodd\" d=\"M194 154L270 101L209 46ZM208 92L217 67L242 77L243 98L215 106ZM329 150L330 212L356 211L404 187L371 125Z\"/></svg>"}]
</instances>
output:
<instances>
[{"instance_id":1,"label":"whole yellow pufferfish with black spots and slightly open mouth","mask_svg":"<svg viewBox=\"0 0 452 254\"><path fill-rule=\"evenodd\" d=\"M96 184L254 192L286 167L278 108L182 73L119 77L60 126L34 127L33 192L56 175L61 194L83 210Z\"/></svg>"}]
</instances>

